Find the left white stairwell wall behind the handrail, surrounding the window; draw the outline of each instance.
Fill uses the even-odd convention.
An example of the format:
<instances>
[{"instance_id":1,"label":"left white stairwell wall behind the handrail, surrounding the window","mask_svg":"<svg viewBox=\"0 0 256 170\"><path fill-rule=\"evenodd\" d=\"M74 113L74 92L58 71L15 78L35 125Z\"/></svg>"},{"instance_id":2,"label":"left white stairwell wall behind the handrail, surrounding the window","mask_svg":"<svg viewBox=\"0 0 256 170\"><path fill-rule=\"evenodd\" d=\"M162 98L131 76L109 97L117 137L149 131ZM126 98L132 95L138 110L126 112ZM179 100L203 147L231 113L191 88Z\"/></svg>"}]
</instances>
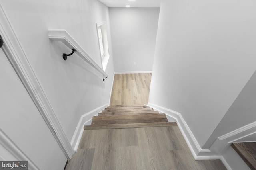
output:
<instances>
[{"instance_id":1,"label":"left white stairwell wall behind the handrail, surrounding the window","mask_svg":"<svg viewBox=\"0 0 256 170\"><path fill-rule=\"evenodd\" d=\"M114 74L110 30L108 30L110 59L106 68L109 78L103 82L102 75L76 55L64 61L62 53L70 53L71 50L62 43L49 41L48 29L66 29L90 57L102 66L96 23L106 21L107 27L110 28L108 7L97 0L15 0L12 2L0 0L0 3L14 27L66 137L71 141L81 116L109 102ZM9 77L12 78L12 76ZM4 95L7 96L8 92L6 91ZM20 101L14 101L14 103L19 105ZM28 109L30 107L32 106L28 106ZM1 108L2 113L7 110L8 107ZM28 113L41 116L38 111ZM32 119L32 117L28 115L26 119ZM40 122L35 119L34 123ZM31 126L31 128L35 127ZM44 128L42 131L48 130L48 127ZM42 134L42 138L49 140L49 144L46 145L55 145L55 141L52 142L50 137ZM28 141L27 145L34 144ZM32 147L27 149L28 152L34 152ZM50 155L52 160L59 156L58 152ZM35 158L39 156L35 155ZM64 165L65 163L66 158Z\"/></svg>"}]
</instances>

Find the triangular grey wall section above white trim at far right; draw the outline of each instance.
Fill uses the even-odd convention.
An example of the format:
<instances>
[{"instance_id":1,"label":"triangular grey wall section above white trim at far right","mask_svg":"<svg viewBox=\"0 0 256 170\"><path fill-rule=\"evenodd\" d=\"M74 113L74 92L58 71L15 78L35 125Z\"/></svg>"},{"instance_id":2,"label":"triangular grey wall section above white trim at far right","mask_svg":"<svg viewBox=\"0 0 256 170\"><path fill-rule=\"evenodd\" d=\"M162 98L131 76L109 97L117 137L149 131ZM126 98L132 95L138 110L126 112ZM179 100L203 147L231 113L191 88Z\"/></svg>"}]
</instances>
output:
<instances>
[{"instance_id":1,"label":"triangular grey wall section above white trim at far right","mask_svg":"<svg viewBox=\"0 0 256 170\"><path fill-rule=\"evenodd\" d=\"M255 122L255 111L256 72L254 72L246 86L244 86L234 103L230 106L204 147L209 148L218 137ZM244 139L240 139L239 141L256 141L256 136L254 134Z\"/></svg>"}]
</instances>

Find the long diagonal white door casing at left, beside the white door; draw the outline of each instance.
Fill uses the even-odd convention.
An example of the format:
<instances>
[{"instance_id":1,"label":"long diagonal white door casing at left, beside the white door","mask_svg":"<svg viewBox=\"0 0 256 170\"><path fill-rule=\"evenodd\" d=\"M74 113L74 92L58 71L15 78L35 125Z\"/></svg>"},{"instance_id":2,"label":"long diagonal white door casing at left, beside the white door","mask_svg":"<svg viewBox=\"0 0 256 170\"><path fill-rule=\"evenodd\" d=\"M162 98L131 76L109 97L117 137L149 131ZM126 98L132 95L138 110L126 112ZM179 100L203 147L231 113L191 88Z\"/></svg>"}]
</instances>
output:
<instances>
[{"instance_id":1,"label":"long diagonal white door casing at left, beside the white door","mask_svg":"<svg viewBox=\"0 0 256 170\"><path fill-rule=\"evenodd\" d=\"M6 57L12 64L20 81L26 88L28 94L38 108L38 111L44 118L50 131L55 137L60 148L68 159L72 157L74 151L62 129L58 119L50 105L37 76L30 65L26 53L12 27L6 12L0 4L0 34L2 35L4 45L2 47Z\"/></svg>"}]
</instances>

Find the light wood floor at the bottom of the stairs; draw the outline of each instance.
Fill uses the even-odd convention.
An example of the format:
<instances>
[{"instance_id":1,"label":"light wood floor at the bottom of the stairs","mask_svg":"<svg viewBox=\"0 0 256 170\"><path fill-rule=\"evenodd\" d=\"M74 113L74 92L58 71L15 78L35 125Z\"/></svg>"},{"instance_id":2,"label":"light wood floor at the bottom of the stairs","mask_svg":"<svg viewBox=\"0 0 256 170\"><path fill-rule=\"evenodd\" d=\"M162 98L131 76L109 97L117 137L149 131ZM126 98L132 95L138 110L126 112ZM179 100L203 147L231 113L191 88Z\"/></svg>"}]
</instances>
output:
<instances>
[{"instance_id":1,"label":"light wood floor at the bottom of the stairs","mask_svg":"<svg viewBox=\"0 0 256 170\"><path fill-rule=\"evenodd\" d=\"M115 74L110 105L148 104L151 73Z\"/></svg>"}]
</instances>

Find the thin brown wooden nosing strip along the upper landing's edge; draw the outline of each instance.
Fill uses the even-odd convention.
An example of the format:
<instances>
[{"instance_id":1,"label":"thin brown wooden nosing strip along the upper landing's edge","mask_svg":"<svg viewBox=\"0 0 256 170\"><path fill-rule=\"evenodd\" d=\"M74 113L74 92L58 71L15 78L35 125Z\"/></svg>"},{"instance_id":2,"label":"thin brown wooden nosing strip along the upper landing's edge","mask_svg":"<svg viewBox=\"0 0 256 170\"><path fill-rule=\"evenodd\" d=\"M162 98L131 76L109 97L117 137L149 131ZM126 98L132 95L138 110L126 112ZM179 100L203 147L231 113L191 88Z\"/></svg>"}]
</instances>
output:
<instances>
[{"instance_id":1,"label":"thin brown wooden nosing strip along the upper landing's edge","mask_svg":"<svg viewBox=\"0 0 256 170\"><path fill-rule=\"evenodd\" d=\"M130 123L130 124L114 124L114 125L90 125L90 126L84 126L84 130L124 129L124 128L164 127L164 126L177 126L177 123L176 122L154 122L154 123Z\"/></svg>"}]
</instances>

